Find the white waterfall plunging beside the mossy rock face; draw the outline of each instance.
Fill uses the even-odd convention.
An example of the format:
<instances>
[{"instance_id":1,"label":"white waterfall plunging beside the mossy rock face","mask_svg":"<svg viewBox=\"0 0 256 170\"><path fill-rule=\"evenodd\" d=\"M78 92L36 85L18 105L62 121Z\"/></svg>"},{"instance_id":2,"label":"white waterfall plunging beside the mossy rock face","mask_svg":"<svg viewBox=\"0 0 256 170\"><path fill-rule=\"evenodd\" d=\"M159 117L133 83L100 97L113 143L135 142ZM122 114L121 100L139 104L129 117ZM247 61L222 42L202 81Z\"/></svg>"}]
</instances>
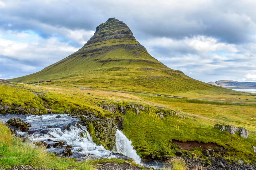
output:
<instances>
[{"instance_id":1,"label":"white waterfall plunging beside the mossy rock face","mask_svg":"<svg viewBox=\"0 0 256 170\"><path fill-rule=\"evenodd\" d=\"M131 145L131 141L127 139L127 137L118 129L115 135L116 135L115 145L116 145L117 152L132 158L135 163L140 164L141 158L139 157L139 155L136 153L136 150Z\"/></svg>"}]
</instances>

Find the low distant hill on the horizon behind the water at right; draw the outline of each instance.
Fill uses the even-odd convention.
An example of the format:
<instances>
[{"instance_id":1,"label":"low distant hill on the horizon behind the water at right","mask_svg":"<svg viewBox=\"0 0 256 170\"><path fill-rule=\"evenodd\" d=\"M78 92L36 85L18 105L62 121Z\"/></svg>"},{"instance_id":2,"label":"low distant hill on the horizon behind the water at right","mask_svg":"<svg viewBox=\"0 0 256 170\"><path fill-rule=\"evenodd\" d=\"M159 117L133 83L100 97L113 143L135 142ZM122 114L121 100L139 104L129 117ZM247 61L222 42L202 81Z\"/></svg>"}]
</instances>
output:
<instances>
[{"instance_id":1,"label":"low distant hill on the horizon behind the water at right","mask_svg":"<svg viewBox=\"0 0 256 170\"><path fill-rule=\"evenodd\" d=\"M215 86L221 86L230 89L256 89L256 82L238 82L232 80L219 80L219 81L210 81L208 84Z\"/></svg>"}]
</instances>

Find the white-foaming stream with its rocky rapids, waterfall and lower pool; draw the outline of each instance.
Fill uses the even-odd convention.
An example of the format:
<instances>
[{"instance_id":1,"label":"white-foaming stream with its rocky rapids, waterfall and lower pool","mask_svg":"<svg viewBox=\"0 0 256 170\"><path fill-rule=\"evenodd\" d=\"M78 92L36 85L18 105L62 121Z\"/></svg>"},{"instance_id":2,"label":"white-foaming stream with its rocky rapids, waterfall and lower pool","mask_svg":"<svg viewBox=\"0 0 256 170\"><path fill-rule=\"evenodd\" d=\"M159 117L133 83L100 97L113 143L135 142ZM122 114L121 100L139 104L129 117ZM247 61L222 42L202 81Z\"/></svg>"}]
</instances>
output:
<instances>
[{"instance_id":1,"label":"white-foaming stream with its rocky rapids, waterfall and lower pool","mask_svg":"<svg viewBox=\"0 0 256 170\"><path fill-rule=\"evenodd\" d=\"M77 126L78 119L68 114L60 114L61 118L56 118L59 114L47 115L19 115L19 114L0 114L0 121L18 117L21 120L31 124L28 132L17 132L19 135L26 135L32 142L44 141L53 144L54 141L62 141L65 145L72 146L72 156L70 158L77 159L100 159L100 158L116 158L127 159L132 158L135 163L162 169L162 163L159 162L142 162L136 150L132 146L132 142L117 129L116 131L116 152L104 149L101 145L96 145L86 127ZM68 127L68 128L66 128ZM80 133L87 134L81 137ZM49 141L50 140L50 141ZM62 148L49 148L47 152L61 153ZM119 154L121 153L121 154Z\"/></svg>"}]
</instances>

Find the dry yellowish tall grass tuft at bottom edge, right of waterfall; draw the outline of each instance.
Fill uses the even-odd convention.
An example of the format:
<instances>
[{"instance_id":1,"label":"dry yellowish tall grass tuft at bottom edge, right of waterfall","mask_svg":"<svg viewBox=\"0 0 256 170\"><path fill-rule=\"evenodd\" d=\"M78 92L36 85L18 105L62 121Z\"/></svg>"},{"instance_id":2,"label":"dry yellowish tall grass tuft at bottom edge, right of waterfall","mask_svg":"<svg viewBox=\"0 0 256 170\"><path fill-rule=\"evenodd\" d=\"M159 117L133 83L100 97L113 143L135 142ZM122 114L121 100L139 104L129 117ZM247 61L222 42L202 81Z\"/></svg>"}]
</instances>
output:
<instances>
[{"instance_id":1,"label":"dry yellowish tall grass tuft at bottom edge, right of waterfall","mask_svg":"<svg viewBox=\"0 0 256 170\"><path fill-rule=\"evenodd\" d=\"M207 170L200 163L191 165L183 157L175 157L164 164L164 170Z\"/></svg>"}]
</instances>

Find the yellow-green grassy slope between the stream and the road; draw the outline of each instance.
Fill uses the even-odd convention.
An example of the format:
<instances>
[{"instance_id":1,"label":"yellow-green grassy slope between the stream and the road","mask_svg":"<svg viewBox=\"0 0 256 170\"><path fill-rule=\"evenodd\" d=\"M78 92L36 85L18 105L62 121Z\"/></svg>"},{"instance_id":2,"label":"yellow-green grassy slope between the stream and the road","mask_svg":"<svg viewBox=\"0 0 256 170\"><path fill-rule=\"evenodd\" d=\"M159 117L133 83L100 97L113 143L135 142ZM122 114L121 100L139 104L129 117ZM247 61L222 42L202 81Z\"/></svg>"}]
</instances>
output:
<instances>
[{"instance_id":1,"label":"yellow-green grassy slope between the stream and the road","mask_svg":"<svg viewBox=\"0 0 256 170\"><path fill-rule=\"evenodd\" d=\"M29 86L25 86L29 87ZM244 159L255 161L255 154L252 145L256 145L255 121L248 120L255 115L255 106L241 104L220 105L219 102L194 102L194 100L165 98L162 96L148 96L139 94L126 94L103 91L81 91L72 89L70 91L57 91L41 87L13 87L11 85L0 85L0 100L4 104L15 103L24 107L39 108L43 102L48 102L54 113L63 113L65 109L88 109L94 111L101 117L124 117L123 133L132 141L133 146L141 156L153 153L155 155L175 156L175 150L171 148L172 139L180 141L213 142L223 146L228 150L227 158ZM64 88L60 88L64 90ZM66 90L68 90L66 88ZM43 93L43 96L34 94ZM77 92L83 92L77 93ZM87 95L87 92L93 95ZM12 97L20 94L21 97ZM107 98L108 97L108 98ZM102 110L99 104L102 100L114 103L116 106L128 106L130 103L153 103L162 107L172 107L173 109L158 109L152 104L144 104L151 110L140 111L136 115L134 110L127 108L125 115L118 113L113 115L106 110ZM116 102L119 101L119 102ZM126 102L124 102L126 101ZM26 105L25 105L26 103ZM32 103L32 104L30 104ZM44 106L44 105L42 105ZM186 111L193 115L186 114L184 119L179 116L170 116L171 110ZM162 112L164 118L161 119L157 112ZM42 111L42 114L45 113ZM207 118L207 119L206 119ZM216 122L234 124L238 127L246 127L249 131L249 138L244 139L238 134L230 135L214 128ZM199 154L197 150L191 151ZM234 156L232 156L234 155Z\"/></svg>"}]
</instances>

